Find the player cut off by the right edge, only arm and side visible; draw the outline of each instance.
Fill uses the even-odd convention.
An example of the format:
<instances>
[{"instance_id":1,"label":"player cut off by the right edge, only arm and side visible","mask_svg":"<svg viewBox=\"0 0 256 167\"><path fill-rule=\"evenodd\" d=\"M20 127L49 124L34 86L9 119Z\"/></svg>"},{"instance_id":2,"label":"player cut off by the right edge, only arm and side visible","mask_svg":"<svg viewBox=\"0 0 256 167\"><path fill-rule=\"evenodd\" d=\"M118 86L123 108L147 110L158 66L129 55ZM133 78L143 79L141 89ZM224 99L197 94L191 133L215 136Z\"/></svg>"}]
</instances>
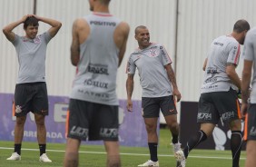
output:
<instances>
[{"instance_id":1,"label":"player cut off by the right edge, only arm and side visible","mask_svg":"<svg viewBox=\"0 0 256 167\"><path fill-rule=\"evenodd\" d=\"M247 34L243 48L243 70L241 77L241 113L245 116L244 140L246 143L245 167L256 166L256 27ZM251 81L251 70L253 75ZM251 83L251 94L250 94ZM249 101L250 98L250 101ZM250 103L250 104L248 104Z\"/></svg>"}]
</instances>

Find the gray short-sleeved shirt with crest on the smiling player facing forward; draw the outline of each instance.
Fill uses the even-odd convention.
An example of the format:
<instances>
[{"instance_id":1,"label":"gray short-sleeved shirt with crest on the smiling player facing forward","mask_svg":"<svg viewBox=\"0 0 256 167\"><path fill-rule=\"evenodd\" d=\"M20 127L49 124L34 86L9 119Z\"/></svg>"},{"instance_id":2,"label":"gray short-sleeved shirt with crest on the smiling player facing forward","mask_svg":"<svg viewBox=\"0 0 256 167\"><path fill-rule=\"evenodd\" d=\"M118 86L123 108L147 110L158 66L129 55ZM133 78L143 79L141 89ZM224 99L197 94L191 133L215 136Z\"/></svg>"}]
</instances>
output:
<instances>
[{"instance_id":1,"label":"gray short-sleeved shirt with crest on the smiling player facing forward","mask_svg":"<svg viewBox=\"0 0 256 167\"><path fill-rule=\"evenodd\" d=\"M127 64L127 74L135 74L138 68L143 97L163 97L172 95L170 82L164 65L172 64L161 44L151 44L147 48L134 51Z\"/></svg>"}]
</instances>

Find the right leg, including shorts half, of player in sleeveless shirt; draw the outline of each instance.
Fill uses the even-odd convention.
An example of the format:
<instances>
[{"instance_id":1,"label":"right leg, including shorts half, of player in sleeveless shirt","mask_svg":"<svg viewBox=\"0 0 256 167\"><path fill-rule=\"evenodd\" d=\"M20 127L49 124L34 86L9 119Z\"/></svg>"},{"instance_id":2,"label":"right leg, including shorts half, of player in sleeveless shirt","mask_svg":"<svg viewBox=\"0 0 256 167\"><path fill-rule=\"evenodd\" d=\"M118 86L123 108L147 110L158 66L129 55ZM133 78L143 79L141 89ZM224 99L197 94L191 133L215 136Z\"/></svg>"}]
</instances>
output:
<instances>
[{"instance_id":1,"label":"right leg, including shorts half, of player in sleeveless shirt","mask_svg":"<svg viewBox=\"0 0 256 167\"><path fill-rule=\"evenodd\" d=\"M107 152L106 167L121 167L118 142L118 106L94 103L93 122L89 139L103 140Z\"/></svg>"}]
</instances>

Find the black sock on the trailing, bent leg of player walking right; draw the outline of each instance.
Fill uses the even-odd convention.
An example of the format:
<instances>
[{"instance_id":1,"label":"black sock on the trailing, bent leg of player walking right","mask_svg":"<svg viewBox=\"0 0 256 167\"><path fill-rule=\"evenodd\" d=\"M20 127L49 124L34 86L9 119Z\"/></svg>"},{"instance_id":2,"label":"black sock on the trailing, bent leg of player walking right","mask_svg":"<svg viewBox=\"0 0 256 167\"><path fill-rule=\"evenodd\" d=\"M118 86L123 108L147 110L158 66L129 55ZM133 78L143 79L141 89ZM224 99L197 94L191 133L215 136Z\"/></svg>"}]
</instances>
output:
<instances>
[{"instance_id":1,"label":"black sock on the trailing, bent leg of player walking right","mask_svg":"<svg viewBox=\"0 0 256 167\"><path fill-rule=\"evenodd\" d=\"M201 142L205 141L207 139L207 135L202 131L198 131L196 135L194 135L189 142L187 142L186 147L184 148L184 155L187 158L189 155L189 152L192 151L194 147L196 147Z\"/></svg>"}]
</instances>

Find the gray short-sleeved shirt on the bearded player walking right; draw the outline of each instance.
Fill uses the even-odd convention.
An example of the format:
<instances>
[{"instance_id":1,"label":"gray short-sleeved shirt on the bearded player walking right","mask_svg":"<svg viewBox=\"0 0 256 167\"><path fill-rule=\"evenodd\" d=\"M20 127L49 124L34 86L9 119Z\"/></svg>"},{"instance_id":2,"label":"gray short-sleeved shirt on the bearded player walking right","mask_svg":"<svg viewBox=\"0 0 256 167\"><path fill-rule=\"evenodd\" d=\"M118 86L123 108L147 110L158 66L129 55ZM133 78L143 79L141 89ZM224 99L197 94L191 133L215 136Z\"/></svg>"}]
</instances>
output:
<instances>
[{"instance_id":1,"label":"gray short-sleeved shirt on the bearded player walking right","mask_svg":"<svg viewBox=\"0 0 256 167\"><path fill-rule=\"evenodd\" d=\"M222 35L213 40L204 73L201 93L228 92L237 90L226 74L227 64L239 64L240 44L229 35Z\"/></svg>"}]
</instances>

